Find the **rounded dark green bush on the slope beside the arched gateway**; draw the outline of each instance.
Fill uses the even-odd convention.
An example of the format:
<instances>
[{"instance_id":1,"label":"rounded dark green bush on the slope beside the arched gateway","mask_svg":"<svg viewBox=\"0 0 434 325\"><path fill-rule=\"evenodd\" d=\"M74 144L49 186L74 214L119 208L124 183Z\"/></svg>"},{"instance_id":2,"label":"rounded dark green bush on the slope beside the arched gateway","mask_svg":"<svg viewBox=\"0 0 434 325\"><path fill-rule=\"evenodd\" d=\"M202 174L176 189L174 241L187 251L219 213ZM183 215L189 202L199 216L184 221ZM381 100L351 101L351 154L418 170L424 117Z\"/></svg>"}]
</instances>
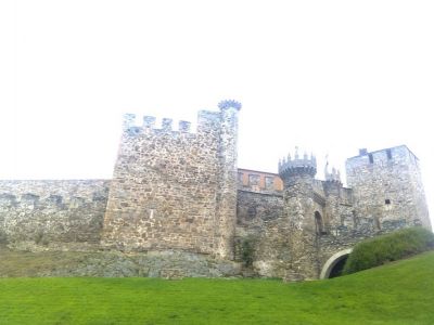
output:
<instances>
[{"instance_id":1,"label":"rounded dark green bush on the slope beside the arched gateway","mask_svg":"<svg viewBox=\"0 0 434 325\"><path fill-rule=\"evenodd\" d=\"M357 244L343 274L367 270L434 249L434 234L423 227L409 227Z\"/></svg>"}]
</instances>

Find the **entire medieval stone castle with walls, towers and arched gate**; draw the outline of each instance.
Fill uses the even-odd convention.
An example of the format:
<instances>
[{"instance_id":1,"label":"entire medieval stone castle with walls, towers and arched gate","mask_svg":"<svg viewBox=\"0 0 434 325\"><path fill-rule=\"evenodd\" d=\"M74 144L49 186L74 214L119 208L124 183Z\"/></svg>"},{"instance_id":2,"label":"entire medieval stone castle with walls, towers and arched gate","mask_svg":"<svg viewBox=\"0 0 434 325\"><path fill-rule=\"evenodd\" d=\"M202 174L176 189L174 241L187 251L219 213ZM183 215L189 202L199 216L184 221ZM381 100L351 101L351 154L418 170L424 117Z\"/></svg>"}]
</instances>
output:
<instances>
[{"instance_id":1,"label":"entire medieval stone castle with walls, towers and arched gate","mask_svg":"<svg viewBox=\"0 0 434 325\"><path fill-rule=\"evenodd\" d=\"M188 251L289 281L339 274L354 245L431 230L418 158L405 146L346 160L348 187L312 155L279 173L237 166L241 104L201 110L197 129L126 115L112 180L0 181L0 243L17 249Z\"/></svg>"}]
</instances>

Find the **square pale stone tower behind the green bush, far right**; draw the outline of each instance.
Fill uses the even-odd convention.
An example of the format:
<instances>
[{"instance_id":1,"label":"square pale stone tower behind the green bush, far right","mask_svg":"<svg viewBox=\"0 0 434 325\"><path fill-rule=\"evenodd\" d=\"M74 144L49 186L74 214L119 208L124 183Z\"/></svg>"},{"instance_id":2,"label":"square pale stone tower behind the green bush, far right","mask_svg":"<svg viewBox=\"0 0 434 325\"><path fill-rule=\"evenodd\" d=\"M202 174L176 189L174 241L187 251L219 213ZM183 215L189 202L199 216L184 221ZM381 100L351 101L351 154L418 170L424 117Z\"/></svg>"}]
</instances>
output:
<instances>
[{"instance_id":1,"label":"square pale stone tower behind the green bush, far right","mask_svg":"<svg viewBox=\"0 0 434 325\"><path fill-rule=\"evenodd\" d=\"M376 230L423 225L431 230L419 159L406 146L359 155L346 160L358 217L370 218Z\"/></svg>"}]
</instances>

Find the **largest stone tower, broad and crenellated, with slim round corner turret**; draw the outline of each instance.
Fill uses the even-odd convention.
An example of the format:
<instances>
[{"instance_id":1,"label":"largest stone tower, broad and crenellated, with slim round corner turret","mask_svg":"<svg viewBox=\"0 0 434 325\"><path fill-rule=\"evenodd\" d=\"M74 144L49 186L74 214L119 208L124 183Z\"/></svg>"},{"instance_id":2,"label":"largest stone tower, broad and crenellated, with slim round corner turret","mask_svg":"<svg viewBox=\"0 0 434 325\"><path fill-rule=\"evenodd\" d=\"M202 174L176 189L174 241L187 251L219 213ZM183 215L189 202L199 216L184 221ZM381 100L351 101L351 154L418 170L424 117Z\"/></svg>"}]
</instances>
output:
<instances>
[{"instance_id":1,"label":"largest stone tower, broad and crenellated, with slim round corner turret","mask_svg":"<svg viewBox=\"0 0 434 325\"><path fill-rule=\"evenodd\" d=\"M180 249L231 258L237 222L241 104L201 110L196 132L126 115L104 218L103 243L125 250Z\"/></svg>"}]
</instances>

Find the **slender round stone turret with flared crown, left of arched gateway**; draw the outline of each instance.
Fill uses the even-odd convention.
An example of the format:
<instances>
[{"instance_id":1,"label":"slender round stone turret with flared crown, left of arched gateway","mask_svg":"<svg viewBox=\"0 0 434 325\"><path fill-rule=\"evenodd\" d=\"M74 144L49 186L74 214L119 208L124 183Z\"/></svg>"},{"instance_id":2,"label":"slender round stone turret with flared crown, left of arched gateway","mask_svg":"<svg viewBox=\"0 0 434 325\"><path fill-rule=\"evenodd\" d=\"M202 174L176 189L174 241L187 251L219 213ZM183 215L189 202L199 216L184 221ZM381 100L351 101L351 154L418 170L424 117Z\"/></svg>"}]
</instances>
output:
<instances>
[{"instance_id":1,"label":"slender round stone turret with flared crown, left of arched gateway","mask_svg":"<svg viewBox=\"0 0 434 325\"><path fill-rule=\"evenodd\" d=\"M279 174L283 181L283 216L289 222L291 260L288 280L316 278L317 232L316 206L314 202L317 161L304 154L283 159ZM322 222L322 220L321 220Z\"/></svg>"}]
</instances>

